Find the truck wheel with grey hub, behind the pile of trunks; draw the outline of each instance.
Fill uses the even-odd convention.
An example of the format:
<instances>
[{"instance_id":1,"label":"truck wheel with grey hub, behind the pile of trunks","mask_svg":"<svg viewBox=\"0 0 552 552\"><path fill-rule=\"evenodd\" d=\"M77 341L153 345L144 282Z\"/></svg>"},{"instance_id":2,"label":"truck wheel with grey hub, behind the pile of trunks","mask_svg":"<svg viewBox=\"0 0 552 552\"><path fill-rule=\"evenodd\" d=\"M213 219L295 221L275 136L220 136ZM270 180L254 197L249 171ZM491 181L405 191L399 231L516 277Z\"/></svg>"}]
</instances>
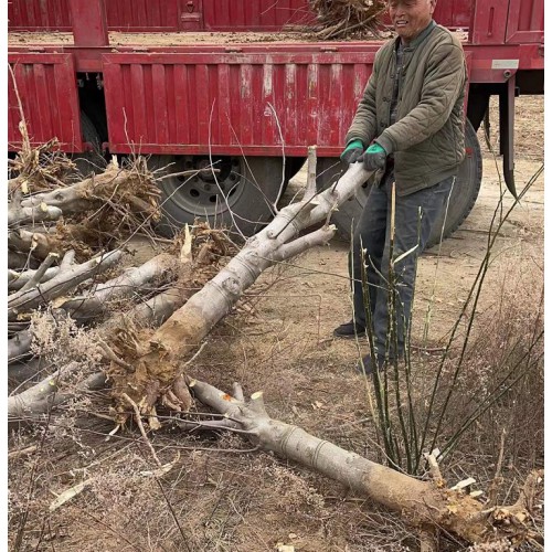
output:
<instances>
[{"instance_id":1,"label":"truck wheel with grey hub, behind the pile of trunks","mask_svg":"<svg viewBox=\"0 0 552 552\"><path fill-rule=\"evenodd\" d=\"M162 193L163 217L157 230L168 236L195 219L251 236L273 219L283 188L282 159L276 157L217 156L216 174L208 156L151 156L148 166ZM162 178L194 170L199 172Z\"/></svg>"}]
</instances>

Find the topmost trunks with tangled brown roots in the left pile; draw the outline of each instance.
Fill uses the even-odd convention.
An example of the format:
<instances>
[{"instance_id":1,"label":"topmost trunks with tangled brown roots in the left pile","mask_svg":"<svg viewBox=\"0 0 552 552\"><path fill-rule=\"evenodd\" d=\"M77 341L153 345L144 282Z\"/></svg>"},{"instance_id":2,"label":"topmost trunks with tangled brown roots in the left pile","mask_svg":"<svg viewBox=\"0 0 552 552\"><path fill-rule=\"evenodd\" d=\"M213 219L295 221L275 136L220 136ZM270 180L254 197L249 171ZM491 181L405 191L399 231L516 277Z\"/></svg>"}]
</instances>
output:
<instances>
[{"instance_id":1,"label":"topmost trunks with tangled brown roots in the left pile","mask_svg":"<svg viewBox=\"0 0 552 552\"><path fill-rule=\"evenodd\" d=\"M32 251L42 261L71 242L77 258L89 256L114 240L150 229L160 217L159 195L142 158L125 168L114 158L102 174L50 191L33 193L26 183L13 189L8 203L10 250ZM39 222L53 223L39 230Z\"/></svg>"}]
</instances>

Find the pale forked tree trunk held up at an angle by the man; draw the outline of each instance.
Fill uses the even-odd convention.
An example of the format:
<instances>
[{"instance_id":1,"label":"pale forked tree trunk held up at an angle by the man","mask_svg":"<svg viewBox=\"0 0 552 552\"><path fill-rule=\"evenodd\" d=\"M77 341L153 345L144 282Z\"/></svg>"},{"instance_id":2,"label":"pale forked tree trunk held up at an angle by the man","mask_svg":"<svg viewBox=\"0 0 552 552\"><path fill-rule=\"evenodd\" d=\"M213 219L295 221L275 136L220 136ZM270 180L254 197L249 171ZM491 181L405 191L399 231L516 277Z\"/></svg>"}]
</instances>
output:
<instances>
[{"instance_id":1,"label":"pale forked tree trunk held up at an angle by the man","mask_svg":"<svg viewBox=\"0 0 552 552\"><path fill-rule=\"evenodd\" d=\"M125 393L137 404L142 404L142 413L149 414L162 390L169 389L181 373L182 361L193 354L263 270L276 262L325 244L333 236L336 227L325 224L297 237L302 230L328 221L331 212L369 177L370 172L362 163L354 163L336 185L318 194L315 182L310 180L301 202L284 208L265 230L250 238L214 278L153 333L150 352L141 355L136 371L124 378L113 378L113 393L119 408L127 410L127 402L120 399Z\"/></svg>"}]
</instances>

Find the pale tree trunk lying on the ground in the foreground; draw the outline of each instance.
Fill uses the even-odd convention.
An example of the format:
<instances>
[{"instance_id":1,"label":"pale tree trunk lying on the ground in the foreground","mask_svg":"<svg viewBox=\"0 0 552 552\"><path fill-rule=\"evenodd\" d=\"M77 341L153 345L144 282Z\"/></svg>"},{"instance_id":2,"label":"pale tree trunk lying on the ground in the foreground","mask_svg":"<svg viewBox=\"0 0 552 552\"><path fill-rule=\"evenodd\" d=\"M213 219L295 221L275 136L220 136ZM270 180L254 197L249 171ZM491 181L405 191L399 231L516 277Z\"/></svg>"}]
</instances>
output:
<instances>
[{"instance_id":1,"label":"pale tree trunk lying on the ground in the foreground","mask_svg":"<svg viewBox=\"0 0 552 552\"><path fill-rule=\"evenodd\" d=\"M234 384L236 385L236 384ZM195 397L236 422L253 443L340 481L374 502L399 512L408 523L439 528L468 542L500 538L522 539L529 519L524 503L486 510L469 495L415 479L308 434L298 426L273 420L263 393L250 401L235 399L212 385L193 380Z\"/></svg>"}]
</instances>

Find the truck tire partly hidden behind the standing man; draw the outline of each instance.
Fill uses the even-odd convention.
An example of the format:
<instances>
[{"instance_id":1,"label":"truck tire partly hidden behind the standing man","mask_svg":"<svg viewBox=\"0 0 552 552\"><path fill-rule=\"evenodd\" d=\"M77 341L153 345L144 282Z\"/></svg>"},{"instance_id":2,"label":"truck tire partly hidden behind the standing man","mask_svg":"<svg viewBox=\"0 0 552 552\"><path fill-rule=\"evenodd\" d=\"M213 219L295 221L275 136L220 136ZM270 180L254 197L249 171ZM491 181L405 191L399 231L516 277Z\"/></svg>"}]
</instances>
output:
<instances>
[{"instance_id":1,"label":"truck tire partly hidden behind the standing man","mask_svg":"<svg viewBox=\"0 0 552 552\"><path fill-rule=\"evenodd\" d=\"M318 159L317 187L323 189L331 185L346 170L347 164L340 162L339 159ZM474 127L469 120L466 120L466 158L460 164L458 177L456 178L450 195L446 224L443 232L444 238L449 237L471 211L481 187L481 148ZM370 183L364 182L362 188L357 191L357 194L333 213L332 221L338 227L339 235L344 240L350 240L351 232L354 230L357 221L360 219L369 193ZM444 216L445 213L443 213L443 217L435 224L426 248L433 247L440 242Z\"/></svg>"}]
</instances>

